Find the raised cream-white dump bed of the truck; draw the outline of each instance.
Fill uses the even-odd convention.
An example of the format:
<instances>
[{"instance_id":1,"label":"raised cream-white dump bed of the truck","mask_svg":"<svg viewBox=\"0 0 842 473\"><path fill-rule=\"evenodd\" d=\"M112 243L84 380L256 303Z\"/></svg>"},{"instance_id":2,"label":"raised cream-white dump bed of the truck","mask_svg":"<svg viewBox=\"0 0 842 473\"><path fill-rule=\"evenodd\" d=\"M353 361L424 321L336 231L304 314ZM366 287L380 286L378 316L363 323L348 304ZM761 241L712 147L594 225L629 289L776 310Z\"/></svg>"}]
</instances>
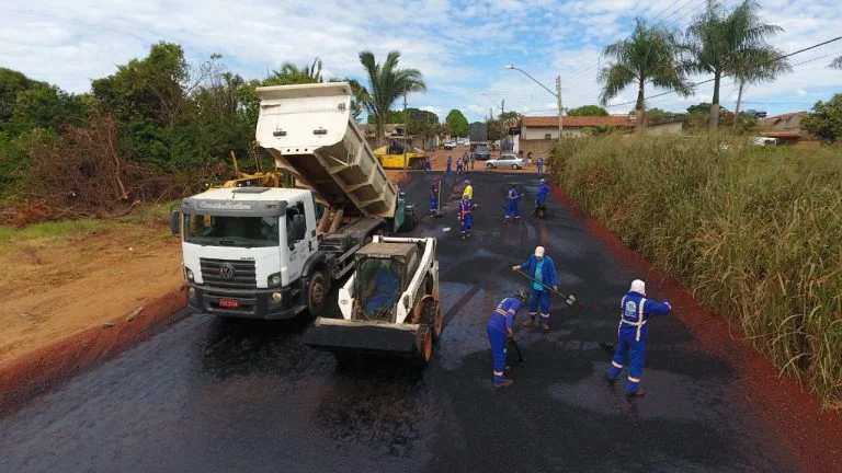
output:
<instances>
[{"instance_id":1,"label":"raised cream-white dump bed of the truck","mask_svg":"<svg viewBox=\"0 0 842 473\"><path fill-rule=\"evenodd\" d=\"M345 216L394 218L398 188L351 117L348 82L258 88L257 140L296 186Z\"/></svg>"}]
</instances>

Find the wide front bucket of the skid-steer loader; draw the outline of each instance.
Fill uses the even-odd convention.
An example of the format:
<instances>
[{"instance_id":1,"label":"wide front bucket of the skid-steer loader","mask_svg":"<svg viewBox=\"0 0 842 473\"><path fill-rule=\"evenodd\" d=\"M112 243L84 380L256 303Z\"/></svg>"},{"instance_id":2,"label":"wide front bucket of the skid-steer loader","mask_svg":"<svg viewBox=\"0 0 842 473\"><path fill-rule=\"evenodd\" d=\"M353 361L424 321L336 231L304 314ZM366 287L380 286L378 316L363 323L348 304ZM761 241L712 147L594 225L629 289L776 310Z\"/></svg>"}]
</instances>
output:
<instances>
[{"instance_id":1,"label":"wide front bucket of the skid-steer loader","mask_svg":"<svg viewBox=\"0 0 842 473\"><path fill-rule=\"evenodd\" d=\"M323 351L412 356L418 353L416 339L420 327L418 324L318 318L307 328L301 342Z\"/></svg>"}]
</instances>

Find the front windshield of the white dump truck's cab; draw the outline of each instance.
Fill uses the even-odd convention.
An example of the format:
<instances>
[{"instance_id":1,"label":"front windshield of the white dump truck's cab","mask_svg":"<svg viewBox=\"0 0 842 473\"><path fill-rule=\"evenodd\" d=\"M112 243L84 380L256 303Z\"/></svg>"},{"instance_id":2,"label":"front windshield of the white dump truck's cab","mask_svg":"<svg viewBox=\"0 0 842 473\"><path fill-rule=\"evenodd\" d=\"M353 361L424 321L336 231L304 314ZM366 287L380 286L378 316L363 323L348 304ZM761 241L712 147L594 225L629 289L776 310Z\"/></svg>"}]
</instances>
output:
<instances>
[{"instance_id":1,"label":"front windshield of the white dump truck's cab","mask_svg":"<svg viewBox=\"0 0 842 473\"><path fill-rule=\"evenodd\" d=\"M277 246L277 217L185 215L184 241L214 246Z\"/></svg>"}]
</instances>

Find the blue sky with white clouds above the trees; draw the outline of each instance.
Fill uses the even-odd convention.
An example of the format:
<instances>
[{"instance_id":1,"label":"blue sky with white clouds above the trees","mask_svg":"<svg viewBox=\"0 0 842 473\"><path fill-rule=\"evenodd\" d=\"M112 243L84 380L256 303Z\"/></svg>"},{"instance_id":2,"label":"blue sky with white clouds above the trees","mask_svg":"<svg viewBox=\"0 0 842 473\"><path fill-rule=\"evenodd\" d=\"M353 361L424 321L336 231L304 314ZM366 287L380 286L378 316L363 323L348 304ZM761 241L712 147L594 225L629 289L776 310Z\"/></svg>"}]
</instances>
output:
<instances>
[{"instance_id":1,"label":"blue sky with white clouds above the trees","mask_svg":"<svg viewBox=\"0 0 842 473\"><path fill-rule=\"evenodd\" d=\"M842 34L839 0L760 0L760 5L767 23L784 28L771 43L785 53ZM400 66L419 69L428 85L424 94L409 94L410 107L441 119L458 108L471 122L501 107L556 115L555 95L505 66L515 65L550 90L560 76L564 108L596 104L598 70L606 62L600 51L629 36L636 16L684 31L703 9L703 0L0 0L0 67L82 93L91 80L167 41L180 44L192 65L220 54L226 67L246 79L263 78L284 61L305 65L319 57L325 77L365 83L361 50L378 59L399 50ZM839 56L842 41L793 56L794 71L750 86L743 109L770 116L807 111L842 92L842 71L827 68ZM624 90L606 108L628 113L636 92ZM647 95L662 92L648 88ZM720 94L722 105L733 109L730 79L724 79ZM648 106L684 112L712 95L708 83L693 96L668 94Z\"/></svg>"}]
</instances>

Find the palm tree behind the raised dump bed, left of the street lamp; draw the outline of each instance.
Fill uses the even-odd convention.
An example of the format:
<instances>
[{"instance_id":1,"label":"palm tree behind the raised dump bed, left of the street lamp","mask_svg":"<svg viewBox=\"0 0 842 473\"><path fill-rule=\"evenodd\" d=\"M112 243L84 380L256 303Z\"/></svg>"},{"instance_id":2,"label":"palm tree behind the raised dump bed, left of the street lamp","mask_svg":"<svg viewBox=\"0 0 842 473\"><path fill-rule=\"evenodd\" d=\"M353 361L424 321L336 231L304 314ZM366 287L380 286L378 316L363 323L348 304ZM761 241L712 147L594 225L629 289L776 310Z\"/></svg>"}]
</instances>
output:
<instances>
[{"instance_id":1,"label":"palm tree behind the raised dump bed, left of the street lamp","mask_svg":"<svg viewBox=\"0 0 842 473\"><path fill-rule=\"evenodd\" d=\"M390 51L383 64L375 62L371 51L360 53L360 62L368 74L368 88L362 86L360 97L369 115L375 118L377 145L383 145L385 117L399 96L409 92L425 92L426 84L418 69L398 69L400 53Z\"/></svg>"}]
</instances>

